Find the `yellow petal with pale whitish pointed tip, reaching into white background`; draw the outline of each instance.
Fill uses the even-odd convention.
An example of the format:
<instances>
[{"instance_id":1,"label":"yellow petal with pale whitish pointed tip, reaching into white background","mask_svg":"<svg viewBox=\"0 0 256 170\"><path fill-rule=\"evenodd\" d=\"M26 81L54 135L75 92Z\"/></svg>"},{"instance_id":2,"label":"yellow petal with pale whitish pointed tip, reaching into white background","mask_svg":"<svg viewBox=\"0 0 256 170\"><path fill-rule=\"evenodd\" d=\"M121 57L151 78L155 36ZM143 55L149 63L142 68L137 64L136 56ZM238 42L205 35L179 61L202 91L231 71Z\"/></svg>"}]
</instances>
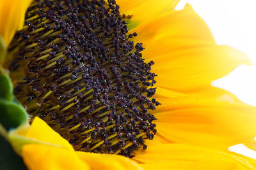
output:
<instances>
[{"instance_id":1,"label":"yellow petal with pale whitish pointed tip, reaching into white background","mask_svg":"<svg viewBox=\"0 0 256 170\"><path fill-rule=\"evenodd\" d=\"M228 46L204 46L166 53L152 58L159 87L191 92L248 62L243 53Z\"/></svg>"}]
</instances>

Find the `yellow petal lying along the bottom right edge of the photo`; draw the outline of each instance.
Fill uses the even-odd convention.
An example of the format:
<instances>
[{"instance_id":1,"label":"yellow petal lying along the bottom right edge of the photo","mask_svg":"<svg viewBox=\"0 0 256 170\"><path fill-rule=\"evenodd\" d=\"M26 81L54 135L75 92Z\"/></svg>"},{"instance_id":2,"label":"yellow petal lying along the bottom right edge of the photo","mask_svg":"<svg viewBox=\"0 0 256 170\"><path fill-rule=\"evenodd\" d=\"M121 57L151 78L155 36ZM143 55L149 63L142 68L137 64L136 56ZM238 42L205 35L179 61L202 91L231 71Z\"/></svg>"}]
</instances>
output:
<instances>
[{"instance_id":1,"label":"yellow petal lying along the bottom right edge of the photo","mask_svg":"<svg viewBox=\"0 0 256 170\"><path fill-rule=\"evenodd\" d=\"M145 169L255 169L243 155L191 145L165 144L138 152L134 160Z\"/></svg>"}]
</instances>

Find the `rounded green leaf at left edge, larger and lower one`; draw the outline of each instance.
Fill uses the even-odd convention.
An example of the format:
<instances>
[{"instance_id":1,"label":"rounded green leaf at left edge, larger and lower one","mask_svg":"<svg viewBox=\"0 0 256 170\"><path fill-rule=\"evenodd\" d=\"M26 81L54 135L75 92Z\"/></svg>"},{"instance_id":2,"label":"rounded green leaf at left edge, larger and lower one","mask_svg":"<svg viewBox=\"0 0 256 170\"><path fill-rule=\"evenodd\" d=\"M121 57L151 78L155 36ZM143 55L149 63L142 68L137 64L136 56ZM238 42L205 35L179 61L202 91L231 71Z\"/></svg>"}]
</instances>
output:
<instances>
[{"instance_id":1,"label":"rounded green leaf at left edge, larger and lower one","mask_svg":"<svg viewBox=\"0 0 256 170\"><path fill-rule=\"evenodd\" d=\"M18 104L0 99L0 124L10 131L27 121L27 113Z\"/></svg>"}]
</instances>

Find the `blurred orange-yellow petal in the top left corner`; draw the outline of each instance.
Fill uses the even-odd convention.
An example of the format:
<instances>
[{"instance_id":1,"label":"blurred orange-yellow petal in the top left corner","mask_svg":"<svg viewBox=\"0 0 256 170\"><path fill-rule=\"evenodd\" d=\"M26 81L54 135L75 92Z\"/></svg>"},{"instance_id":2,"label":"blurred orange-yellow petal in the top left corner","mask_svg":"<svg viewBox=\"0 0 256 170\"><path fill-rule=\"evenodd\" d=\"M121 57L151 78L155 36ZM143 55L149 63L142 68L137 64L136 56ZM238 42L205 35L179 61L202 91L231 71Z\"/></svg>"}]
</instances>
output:
<instances>
[{"instance_id":1,"label":"blurred orange-yellow petal in the top left corner","mask_svg":"<svg viewBox=\"0 0 256 170\"><path fill-rule=\"evenodd\" d=\"M0 36L8 46L15 31L22 29L26 10L32 0L0 1Z\"/></svg>"}]
</instances>

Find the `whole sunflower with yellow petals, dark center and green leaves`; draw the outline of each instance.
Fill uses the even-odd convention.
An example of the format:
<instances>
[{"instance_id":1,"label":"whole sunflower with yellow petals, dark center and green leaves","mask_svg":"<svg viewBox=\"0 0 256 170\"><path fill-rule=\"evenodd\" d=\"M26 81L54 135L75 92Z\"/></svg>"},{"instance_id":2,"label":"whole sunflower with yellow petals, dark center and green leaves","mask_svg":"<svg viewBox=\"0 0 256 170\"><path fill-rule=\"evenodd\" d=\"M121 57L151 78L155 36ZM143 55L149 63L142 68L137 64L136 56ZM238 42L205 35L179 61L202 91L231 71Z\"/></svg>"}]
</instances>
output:
<instances>
[{"instance_id":1,"label":"whole sunflower with yellow petals, dark center and green leaves","mask_svg":"<svg viewBox=\"0 0 256 170\"><path fill-rule=\"evenodd\" d=\"M211 87L250 61L177 3L0 2L0 134L28 169L255 169L227 150L255 108Z\"/></svg>"}]
</instances>

